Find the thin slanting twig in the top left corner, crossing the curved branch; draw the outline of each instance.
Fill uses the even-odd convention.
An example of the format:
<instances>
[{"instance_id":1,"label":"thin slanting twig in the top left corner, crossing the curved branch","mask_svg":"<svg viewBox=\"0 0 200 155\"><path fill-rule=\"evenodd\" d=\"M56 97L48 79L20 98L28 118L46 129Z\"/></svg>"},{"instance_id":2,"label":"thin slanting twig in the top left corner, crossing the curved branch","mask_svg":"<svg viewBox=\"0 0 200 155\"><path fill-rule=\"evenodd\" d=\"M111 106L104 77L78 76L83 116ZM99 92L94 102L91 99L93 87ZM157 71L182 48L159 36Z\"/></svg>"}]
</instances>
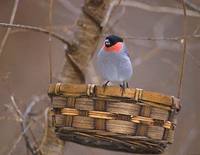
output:
<instances>
[{"instance_id":1,"label":"thin slanting twig in the top left corner, crossing the curved branch","mask_svg":"<svg viewBox=\"0 0 200 155\"><path fill-rule=\"evenodd\" d=\"M19 4L19 0L15 0L14 6L13 6L13 11L12 11L10 22L9 22L10 24L13 24L13 22L14 22L18 4ZM8 39L10 31L11 31L11 28L8 28L7 31L6 31L6 34L3 37L3 40L2 40L1 45L0 45L0 56L1 56L1 53L3 52L3 48L6 44L6 41Z\"/></svg>"}]
</instances>

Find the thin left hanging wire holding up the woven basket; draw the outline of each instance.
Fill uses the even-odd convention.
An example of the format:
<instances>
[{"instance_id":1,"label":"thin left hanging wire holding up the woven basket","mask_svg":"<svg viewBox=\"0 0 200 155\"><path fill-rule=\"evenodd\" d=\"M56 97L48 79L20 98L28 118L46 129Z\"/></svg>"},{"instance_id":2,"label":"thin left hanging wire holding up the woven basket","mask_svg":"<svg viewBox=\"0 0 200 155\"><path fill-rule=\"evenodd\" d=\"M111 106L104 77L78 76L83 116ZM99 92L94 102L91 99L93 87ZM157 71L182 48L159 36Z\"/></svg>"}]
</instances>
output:
<instances>
[{"instance_id":1,"label":"thin left hanging wire holding up the woven basket","mask_svg":"<svg viewBox=\"0 0 200 155\"><path fill-rule=\"evenodd\" d=\"M49 0L49 83L52 83L52 10L53 10L53 0Z\"/></svg>"}]
</instances>

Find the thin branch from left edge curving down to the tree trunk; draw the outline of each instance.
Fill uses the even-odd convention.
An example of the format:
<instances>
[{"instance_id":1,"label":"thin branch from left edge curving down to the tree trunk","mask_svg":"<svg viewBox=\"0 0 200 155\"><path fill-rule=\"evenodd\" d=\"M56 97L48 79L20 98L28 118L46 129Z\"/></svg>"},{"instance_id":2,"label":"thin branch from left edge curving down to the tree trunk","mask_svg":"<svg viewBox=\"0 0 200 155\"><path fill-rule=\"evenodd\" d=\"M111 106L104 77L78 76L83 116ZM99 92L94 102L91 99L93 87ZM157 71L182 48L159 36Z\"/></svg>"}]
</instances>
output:
<instances>
[{"instance_id":1,"label":"thin branch from left edge curving down to the tree trunk","mask_svg":"<svg viewBox=\"0 0 200 155\"><path fill-rule=\"evenodd\" d=\"M41 32L44 34L48 34L49 35L49 31L40 27L35 27L35 26L30 26L30 25L21 25L21 24L8 24L8 23L0 23L0 27L10 27L10 28L18 28L18 29L26 29L26 30L31 30L31 31L35 31L35 32ZM70 42L68 40L66 40L63 36L52 32L51 36L62 41L64 44L67 44L68 47L71 47L72 45L70 44Z\"/></svg>"}]
</instances>

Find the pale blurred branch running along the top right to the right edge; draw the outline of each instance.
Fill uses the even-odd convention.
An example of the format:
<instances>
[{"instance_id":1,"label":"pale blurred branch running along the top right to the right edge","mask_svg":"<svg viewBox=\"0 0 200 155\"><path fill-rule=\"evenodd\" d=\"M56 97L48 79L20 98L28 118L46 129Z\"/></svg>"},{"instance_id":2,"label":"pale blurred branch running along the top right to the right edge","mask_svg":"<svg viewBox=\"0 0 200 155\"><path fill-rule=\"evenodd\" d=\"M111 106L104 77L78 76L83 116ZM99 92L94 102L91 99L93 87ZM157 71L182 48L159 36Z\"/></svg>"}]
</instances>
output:
<instances>
[{"instance_id":1,"label":"pale blurred branch running along the top right to the right edge","mask_svg":"<svg viewBox=\"0 0 200 155\"><path fill-rule=\"evenodd\" d=\"M143 2L135 0L124 0L121 5L136 7L145 11L156 12L156 13L169 13L176 15L184 15L182 9L172 8L172 7L163 7L163 6L152 6ZM200 17L200 14L197 11L187 10L187 16Z\"/></svg>"}]
</instances>

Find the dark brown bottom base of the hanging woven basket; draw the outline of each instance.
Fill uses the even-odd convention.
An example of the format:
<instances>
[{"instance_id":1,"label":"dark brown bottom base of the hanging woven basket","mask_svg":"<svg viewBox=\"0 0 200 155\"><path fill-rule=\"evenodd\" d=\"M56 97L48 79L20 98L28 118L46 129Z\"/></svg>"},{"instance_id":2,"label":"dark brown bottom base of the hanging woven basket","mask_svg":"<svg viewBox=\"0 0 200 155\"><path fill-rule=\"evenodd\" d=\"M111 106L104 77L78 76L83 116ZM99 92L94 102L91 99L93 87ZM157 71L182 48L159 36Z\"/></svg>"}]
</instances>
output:
<instances>
[{"instance_id":1,"label":"dark brown bottom base of the hanging woven basket","mask_svg":"<svg viewBox=\"0 0 200 155\"><path fill-rule=\"evenodd\" d=\"M108 134L106 135L106 133ZM160 154L167 146L167 141L153 140L147 137L103 133L98 130L80 130L71 127L61 127L56 130L56 134L64 141L130 153Z\"/></svg>"}]
</instances>

